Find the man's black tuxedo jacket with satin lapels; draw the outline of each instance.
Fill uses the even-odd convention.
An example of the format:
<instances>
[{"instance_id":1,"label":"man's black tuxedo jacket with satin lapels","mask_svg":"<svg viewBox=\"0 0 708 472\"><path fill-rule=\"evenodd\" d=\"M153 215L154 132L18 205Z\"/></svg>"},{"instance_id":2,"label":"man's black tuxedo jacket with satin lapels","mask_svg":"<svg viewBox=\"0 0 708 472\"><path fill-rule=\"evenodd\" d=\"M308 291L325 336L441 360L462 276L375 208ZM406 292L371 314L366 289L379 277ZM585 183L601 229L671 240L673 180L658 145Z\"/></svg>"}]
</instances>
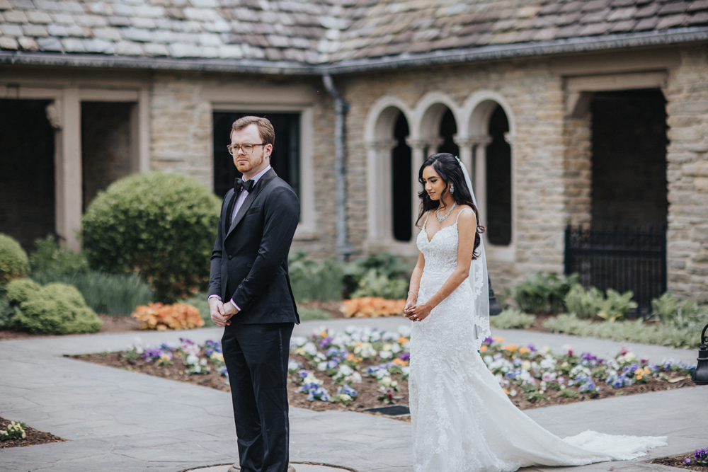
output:
<instances>
[{"instance_id":1,"label":"man's black tuxedo jacket with satin lapels","mask_svg":"<svg viewBox=\"0 0 708 472\"><path fill-rule=\"evenodd\" d=\"M211 258L209 294L234 299L241 323L299 323L287 275L287 253L297 228L297 195L275 171L266 172L236 214L234 190L222 203Z\"/></svg>"}]
</instances>

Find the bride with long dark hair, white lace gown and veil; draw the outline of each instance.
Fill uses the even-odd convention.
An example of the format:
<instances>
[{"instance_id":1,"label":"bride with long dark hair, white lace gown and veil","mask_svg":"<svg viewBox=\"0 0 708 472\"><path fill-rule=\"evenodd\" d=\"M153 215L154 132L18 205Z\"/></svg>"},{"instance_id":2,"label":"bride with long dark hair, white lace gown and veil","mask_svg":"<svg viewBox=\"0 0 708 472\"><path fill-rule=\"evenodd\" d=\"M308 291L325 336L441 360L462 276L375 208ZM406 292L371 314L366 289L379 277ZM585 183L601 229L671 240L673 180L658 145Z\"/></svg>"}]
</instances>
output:
<instances>
[{"instance_id":1,"label":"bride with long dark hair, white lace gown and veil","mask_svg":"<svg viewBox=\"0 0 708 472\"><path fill-rule=\"evenodd\" d=\"M586 431L561 439L511 403L479 355L489 330L484 241L469 175L452 154L430 156L417 224L418 263L405 314L415 472L501 472L634 459L666 437Z\"/></svg>"}]
</instances>

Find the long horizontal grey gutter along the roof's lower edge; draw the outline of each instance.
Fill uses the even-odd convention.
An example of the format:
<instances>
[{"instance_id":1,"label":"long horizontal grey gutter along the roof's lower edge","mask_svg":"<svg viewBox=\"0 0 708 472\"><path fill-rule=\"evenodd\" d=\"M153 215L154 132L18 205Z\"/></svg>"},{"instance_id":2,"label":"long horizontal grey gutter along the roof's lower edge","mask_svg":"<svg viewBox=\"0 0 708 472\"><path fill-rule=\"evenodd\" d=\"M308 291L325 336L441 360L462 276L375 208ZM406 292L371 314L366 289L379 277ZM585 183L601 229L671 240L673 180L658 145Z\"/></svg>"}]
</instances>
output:
<instances>
[{"instance_id":1,"label":"long horizontal grey gutter along the roof's lower edge","mask_svg":"<svg viewBox=\"0 0 708 472\"><path fill-rule=\"evenodd\" d=\"M518 57L593 52L634 47L656 47L708 40L708 27L677 28L646 33L590 36L567 40L535 41L518 44L491 45L466 49L440 50L419 54L397 54L372 59L350 59L340 62L305 64L301 62L269 62L258 59L197 59L176 57L116 57L108 54L67 54L52 52L0 51L0 64L35 66L113 67L170 71L209 71L268 75L333 75L380 71L401 67L511 59Z\"/></svg>"}]
</instances>

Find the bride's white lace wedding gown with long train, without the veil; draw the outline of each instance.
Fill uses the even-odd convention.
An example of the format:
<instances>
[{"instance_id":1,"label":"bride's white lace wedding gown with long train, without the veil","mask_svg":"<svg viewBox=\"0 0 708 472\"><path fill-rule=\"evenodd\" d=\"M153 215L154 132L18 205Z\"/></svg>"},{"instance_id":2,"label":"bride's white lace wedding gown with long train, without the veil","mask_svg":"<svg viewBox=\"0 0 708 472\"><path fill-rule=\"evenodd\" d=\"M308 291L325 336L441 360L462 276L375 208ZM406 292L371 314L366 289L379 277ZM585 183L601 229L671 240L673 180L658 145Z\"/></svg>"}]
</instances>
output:
<instances>
[{"instance_id":1,"label":"bride's white lace wedding gown with long train, without the veil","mask_svg":"<svg viewBox=\"0 0 708 472\"><path fill-rule=\"evenodd\" d=\"M426 258L418 290L423 303L457 266L457 221L430 241L424 224L417 243ZM481 273L481 262L472 263L470 277ZM484 321L469 307L474 297L488 296L480 292L481 284L462 283L427 318L413 323L409 395L415 472L581 466L634 459L666 446L666 437L593 431L560 439L516 408L477 352L474 325Z\"/></svg>"}]
</instances>

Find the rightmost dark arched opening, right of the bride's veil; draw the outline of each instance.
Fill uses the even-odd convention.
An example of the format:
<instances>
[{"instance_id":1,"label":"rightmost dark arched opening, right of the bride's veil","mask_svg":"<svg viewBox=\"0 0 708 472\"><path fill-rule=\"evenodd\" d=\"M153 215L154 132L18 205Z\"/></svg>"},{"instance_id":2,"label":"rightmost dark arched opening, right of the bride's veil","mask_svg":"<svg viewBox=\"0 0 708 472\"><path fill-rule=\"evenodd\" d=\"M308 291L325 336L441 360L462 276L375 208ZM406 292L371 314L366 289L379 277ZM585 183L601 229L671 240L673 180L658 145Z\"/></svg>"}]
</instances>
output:
<instances>
[{"instance_id":1,"label":"rightmost dark arched opening, right of the bride's veil","mask_svg":"<svg viewBox=\"0 0 708 472\"><path fill-rule=\"evenodd\" d=\"M486 234L498 246L511 243L511 146L504 137L508 131L506 113L497 105L489 118L491 143L486 148Z\"/></svg>"}]
</instances>

